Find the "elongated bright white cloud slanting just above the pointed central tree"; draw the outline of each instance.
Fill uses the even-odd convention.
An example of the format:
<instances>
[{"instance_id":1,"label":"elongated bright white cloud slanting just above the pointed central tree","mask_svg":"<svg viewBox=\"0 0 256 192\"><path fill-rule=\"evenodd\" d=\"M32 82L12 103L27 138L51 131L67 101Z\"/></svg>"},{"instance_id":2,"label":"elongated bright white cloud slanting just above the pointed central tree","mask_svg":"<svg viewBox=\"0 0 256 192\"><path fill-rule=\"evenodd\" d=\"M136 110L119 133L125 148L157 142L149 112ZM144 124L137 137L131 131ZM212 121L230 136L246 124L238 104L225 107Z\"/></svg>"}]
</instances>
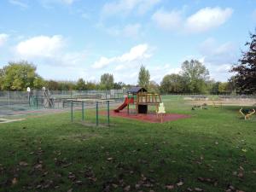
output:
<instances>
[{"instance_id":1,"label":"elongated bright white cloud slanting just above the pointed central tree","mask_svg":"<svg viewBox=\"0 0 256 192\"><path fill-rule=\"evenodd\" d=\"M114 56L111 58L102 56L99 61L96 61L92 67L94 68L102 68L107 67L110 63L113 62L131 62L138 61L149 58L151 55L149 54L148 44L138 44L137 46L130 49L128 53L123 55Z\"/></svg>"}]
</instances>

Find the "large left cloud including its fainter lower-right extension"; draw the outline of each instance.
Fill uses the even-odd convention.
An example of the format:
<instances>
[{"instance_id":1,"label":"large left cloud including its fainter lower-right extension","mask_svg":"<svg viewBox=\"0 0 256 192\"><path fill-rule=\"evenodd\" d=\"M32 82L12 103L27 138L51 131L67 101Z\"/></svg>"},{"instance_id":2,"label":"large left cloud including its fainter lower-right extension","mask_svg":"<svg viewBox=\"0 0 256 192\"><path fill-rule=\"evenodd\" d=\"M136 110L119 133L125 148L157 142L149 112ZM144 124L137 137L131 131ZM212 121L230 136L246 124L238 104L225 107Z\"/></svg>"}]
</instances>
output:
<instances>
[{"instance_id":1,"label":"large left cloud including its fainter lower-right extension","mask_svg":"<svg viewBox=\"0 0 256 192\"><path fill-rule=\"evenodd\" d=\"M52 66L83 65L87 51L65 51L66 40L60 35L37 36L15 46L16 59L35 61Z\"/></svg>"}]
</instances>

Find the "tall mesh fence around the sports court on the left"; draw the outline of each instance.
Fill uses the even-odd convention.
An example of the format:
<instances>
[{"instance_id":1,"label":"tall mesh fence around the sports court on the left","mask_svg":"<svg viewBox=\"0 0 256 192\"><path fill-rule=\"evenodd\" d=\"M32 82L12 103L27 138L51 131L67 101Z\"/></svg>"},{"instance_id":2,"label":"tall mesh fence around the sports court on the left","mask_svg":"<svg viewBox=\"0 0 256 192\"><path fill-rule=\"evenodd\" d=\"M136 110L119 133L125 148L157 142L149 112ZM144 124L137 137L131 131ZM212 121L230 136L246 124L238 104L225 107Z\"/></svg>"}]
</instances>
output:
<instances>
[{"instance_id":1,"label":"tall mesh fence around the sports court on the left","mask_svg":"<svg viewBox=\"0 0 256 192\"><path fill-rule=\"evenodd\" d=\"M123 100L125 90L49 90L52 108L69 108L68 99L113 99ZM19 111L44 108L44 90L0 91L0 115L9 115Z\"/></svg>"}]
</instances>

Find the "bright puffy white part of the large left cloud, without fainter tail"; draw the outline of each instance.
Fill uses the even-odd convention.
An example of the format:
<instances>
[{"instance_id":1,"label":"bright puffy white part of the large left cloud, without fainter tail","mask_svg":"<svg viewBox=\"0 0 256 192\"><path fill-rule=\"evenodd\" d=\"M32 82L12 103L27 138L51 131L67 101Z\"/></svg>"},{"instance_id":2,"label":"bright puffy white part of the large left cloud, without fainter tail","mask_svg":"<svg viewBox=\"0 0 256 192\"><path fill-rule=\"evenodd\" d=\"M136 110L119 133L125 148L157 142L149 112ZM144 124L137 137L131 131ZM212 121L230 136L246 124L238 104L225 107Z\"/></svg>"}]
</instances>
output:
<instances>
[{"instance_id":1,"label":"bright puffy white part of the large left cloud, without fainter tail","mask_svg":"<svg viewBox=\"0 0 256 192\"><path fill-rule=\"evenodd\" d=\"M52 57L64 45L64 39L60 35L52 37L38 36L20 42L16 47L16 53L24 58Z\"/></svg>"}]
</instances>

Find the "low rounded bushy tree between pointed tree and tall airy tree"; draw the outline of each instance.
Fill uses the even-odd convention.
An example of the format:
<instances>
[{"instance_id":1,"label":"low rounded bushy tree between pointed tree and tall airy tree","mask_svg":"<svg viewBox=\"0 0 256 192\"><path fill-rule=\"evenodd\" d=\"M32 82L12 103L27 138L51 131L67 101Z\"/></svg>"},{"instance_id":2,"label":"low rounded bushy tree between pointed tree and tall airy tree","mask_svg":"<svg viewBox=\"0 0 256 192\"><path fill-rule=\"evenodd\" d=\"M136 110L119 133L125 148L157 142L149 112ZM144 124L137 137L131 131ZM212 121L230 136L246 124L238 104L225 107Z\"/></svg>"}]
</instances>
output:
<instances>
[{"instance_id":1,"label":"low rounded bushy tree between pointed tree and tall airy tree","mask_svg":"<svg viewBox=\"0 0 256 192\"><path fill-rule=\"evenodd\" d=\"M160 89L163 93L182 93L185 90L185 82L179 74L168 74L162 79Z\"/></svg>"}]
</instances>

